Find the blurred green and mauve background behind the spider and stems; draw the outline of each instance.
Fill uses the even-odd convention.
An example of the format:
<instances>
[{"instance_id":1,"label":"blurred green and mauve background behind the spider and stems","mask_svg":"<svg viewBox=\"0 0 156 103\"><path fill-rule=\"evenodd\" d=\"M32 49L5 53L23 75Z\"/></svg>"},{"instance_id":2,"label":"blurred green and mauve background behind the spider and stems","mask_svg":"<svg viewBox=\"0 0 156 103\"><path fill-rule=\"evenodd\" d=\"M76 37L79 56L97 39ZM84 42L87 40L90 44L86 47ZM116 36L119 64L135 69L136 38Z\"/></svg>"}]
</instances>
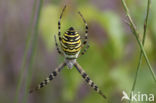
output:
<instances>
[{"instance_id":1,"label":"blurred green and mauve background behind the spider and stems","mask_svg":"<svg viewBox=\"0 0 156 103\"><path fill-rule=\"evenodd\" d=\"M125 1L141 38L147 0ZM33 0L0 0L0 103L12 103L16 96L33 3ZM90 48L77 61L111 103L121 103L122 91L128 94L131 92L140 53L139 46L125 23L126 17L121 0L44 0L30 88L44 80L64 60L58 55L54 43L54 34L58 32L57 22L64 4L67 4L67 9L62 18L62 33L73 26L80 35L84 35L85 25L77 11L81 11L89 26ZM152 0L145 42L145 50L154 71L156 71L155 4L156 1ZM38 6L38 2L36 5ZM23 101L25 82L29 76L27 65L30 54L31 48L27 54L19 103ZM135 92L156 94L155 82L144 59ZM64 68L48 86L29 95L28 103L106 103L106 101L84 82L75 68L72 70Z\"/></svg>"}]
</instances>

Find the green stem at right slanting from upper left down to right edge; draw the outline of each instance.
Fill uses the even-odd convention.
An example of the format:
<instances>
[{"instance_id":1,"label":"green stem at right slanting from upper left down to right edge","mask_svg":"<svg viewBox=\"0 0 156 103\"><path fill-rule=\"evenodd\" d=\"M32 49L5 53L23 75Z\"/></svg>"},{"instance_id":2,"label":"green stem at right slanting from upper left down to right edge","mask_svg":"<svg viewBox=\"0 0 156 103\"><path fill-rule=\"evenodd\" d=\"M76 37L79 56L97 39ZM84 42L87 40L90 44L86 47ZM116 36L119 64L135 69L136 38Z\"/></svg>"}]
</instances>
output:
<instances>
[{"instance_id":1,"label":"green stem at right slanting from upper left down to right edge","mask_svg":"<svg viewBox=\"0 0 156 103\"><path fill-rule=\"evenodd\" d=\"M143 48L143 45L142 45L142 43L139 41L138 33L137 33L137 31L136 31L136 26L135 26L134 22L133 22L132 19L131 19L131 16L130 16L128 7L127 7L127 5L126 5L126 3L125 3L124 0L122 0L122 4L123 4L123 6L124 6L126 15L127 15L128 20L129 20L129 22L130 22L130 27L131 27L131 29L132 29L132 31L133 31L133 34L134 34L134 36L135 36L135 38L136 38L136 40L137 40L137 42L138 42L138 44L139 44L139 46L140 46L140 49L141 49L141 51L142 51L142 53L143 53L143 55L144 55L144 57L145 57L146 63L147 63L147 65L148 65L149 69L150 69L150 72L151 72L151 74L152 74L152 77L153 77L154 81L156 82L156 76L155 76L154 71L153 71L153 69L152 69L152 66L151 66L151 64L150 64L150 62L149 62L149 59L148 59L148 57L147 57L147 54L146 54L146 52L145 52L145 50L144 50L144 48Z\"/></svg>"}]
</instances>

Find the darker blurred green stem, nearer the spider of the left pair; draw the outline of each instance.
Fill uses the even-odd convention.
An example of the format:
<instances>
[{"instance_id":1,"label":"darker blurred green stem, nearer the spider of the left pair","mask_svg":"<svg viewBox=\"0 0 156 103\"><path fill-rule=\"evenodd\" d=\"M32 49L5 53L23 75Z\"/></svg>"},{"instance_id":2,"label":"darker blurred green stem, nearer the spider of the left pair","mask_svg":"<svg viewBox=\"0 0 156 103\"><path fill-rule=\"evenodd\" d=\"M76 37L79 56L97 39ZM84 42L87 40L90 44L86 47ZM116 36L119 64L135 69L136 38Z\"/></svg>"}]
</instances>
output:
<instances>
[{"instance_id":1,"label":"darker blurred green stem, nearer the spider of the left pair","mask_svg":"<svg viewBox=\"0 0 156 103\"><path fill-rule=\"evenodd\" d=\"M37 39L38 39L38 27L39 27L39 19L40 19L40 13L41 13L41 8L43 5L43 0L39 0L39 7L37 9L37 18L35 21L35 28L34 28L34 35L33 35L33 39L32 39L32 53L30 55L30 62L28 63L28 72L27 72L27 78L26 78L26 87L25 87L25 91L24 91L24 99L23 99L23 103L27 103L27 98L28 98L28 90L29 90L29 85L31 82L31 78L32 78L32 67L33 67L33 63L34 63L34 57L36 54L36 46L37 46Z\"/></svg>"}]
</instances>

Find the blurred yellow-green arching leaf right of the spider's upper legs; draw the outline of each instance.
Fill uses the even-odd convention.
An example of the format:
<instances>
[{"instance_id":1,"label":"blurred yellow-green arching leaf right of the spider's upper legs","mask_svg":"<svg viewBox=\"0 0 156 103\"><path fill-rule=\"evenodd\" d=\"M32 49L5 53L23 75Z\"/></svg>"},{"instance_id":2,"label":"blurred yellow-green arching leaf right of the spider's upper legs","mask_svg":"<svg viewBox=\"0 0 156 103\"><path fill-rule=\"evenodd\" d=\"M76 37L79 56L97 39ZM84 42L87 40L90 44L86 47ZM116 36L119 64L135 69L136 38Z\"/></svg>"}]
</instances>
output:
<instances>
[{"instance_id":1,"label":"blurred yellow-green arching leaf right of the spider's upper legs","mask_svg":"<svg viewBox=\"0 0 156 103\"><path fill-rule=\"evenodd\" d=\"M87 10L84 8L87 8ZM121 57L124 47L124 35L119 16L112 11L99 11L91 5L82 6L80 11L85 14L87 21L96 21L102 26L110 40L109 48L112 48L111 52L113 52L111 55L114 58Z\"/></svg>"}]
</instances>

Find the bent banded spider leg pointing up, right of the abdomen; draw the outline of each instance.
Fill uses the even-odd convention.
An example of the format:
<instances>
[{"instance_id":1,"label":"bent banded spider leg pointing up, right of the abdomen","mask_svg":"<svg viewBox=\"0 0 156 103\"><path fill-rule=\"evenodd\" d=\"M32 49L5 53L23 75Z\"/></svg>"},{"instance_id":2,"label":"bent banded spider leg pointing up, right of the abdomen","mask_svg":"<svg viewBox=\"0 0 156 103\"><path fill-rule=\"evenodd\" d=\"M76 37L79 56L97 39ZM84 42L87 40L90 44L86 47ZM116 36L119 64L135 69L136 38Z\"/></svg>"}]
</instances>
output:
<instances>
[{"instance_id":1,"label":"bent banded spider leg pointing up, right of the abdomen","mask_svg":"<svg viewBox=\"0 0 156 103\"><path fill-rule=\"evenodd\" d=\"M86 29L86 30L85 30L84 42L83 42L83 44L81 45L81 47L83 47L83 46L86 45L87 42L88 42L88 41L87 41L87 40L88 40L88 24L87 24L86 20L84 19L83 15L81 14L80 11L78 12L78 14L81 16L83 22L85 23L85 29Z\"/></svg>"}]
</instances>

